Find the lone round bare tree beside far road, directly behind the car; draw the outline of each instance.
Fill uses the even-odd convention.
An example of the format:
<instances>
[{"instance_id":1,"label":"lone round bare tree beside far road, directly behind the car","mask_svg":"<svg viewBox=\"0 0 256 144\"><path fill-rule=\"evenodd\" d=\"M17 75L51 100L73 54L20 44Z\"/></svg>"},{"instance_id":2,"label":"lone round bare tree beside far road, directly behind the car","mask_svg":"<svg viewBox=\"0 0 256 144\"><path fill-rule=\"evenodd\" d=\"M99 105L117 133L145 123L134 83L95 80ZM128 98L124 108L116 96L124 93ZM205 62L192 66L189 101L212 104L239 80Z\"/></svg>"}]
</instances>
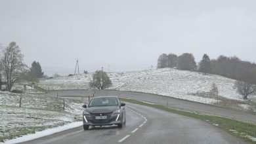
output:
<instances>
[{"instance_id":1,"label":"lone round bare tree beside far road, directly behind the car","mask_svg":"<svg viewBox=\"0 0 256 144\"><path fill-rule=\"evenodd\" d=\"M95 71L93 74L93 80L90 82L90 86L98 88L98 90L104 90L112 86L112 81L104 71Z\"/></svg>"}]
</instances>

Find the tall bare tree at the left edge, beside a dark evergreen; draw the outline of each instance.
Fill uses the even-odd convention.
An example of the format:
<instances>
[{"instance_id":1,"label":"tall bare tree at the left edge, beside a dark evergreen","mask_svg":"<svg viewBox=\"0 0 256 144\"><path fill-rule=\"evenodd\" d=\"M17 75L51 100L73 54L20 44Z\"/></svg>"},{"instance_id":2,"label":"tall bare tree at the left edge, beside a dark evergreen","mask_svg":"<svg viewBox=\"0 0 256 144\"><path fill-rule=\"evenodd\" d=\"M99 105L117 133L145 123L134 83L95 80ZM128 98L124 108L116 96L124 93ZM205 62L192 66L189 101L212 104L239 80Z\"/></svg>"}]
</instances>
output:
<instances>
[{"instance_id":1,"label":"tall bare tree at the left edge, beside a dark evergreen","mask_svg":"<svg viewBox=\"0 0 256 144\"><path fill-rule=\"evenodd\" d=\"M14 82L20 79L26 65L23 63L23 54L15 42L11 42L9 46L4 48L2 54L1 63L3 63L4 75L7 81L6 87L11 92Z\"/></svg>"}]
</instances>

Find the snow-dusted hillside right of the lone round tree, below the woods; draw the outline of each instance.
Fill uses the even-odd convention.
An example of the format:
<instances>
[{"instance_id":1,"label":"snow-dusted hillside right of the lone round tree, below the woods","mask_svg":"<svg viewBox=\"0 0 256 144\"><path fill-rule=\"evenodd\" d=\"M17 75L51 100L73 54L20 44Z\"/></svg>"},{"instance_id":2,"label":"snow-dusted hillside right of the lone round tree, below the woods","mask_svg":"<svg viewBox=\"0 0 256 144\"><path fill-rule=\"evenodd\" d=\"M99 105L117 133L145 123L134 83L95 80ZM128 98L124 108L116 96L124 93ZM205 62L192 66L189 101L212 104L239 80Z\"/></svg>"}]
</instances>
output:
<instances>
[{"instance_id":1,"label":"snow-dusted hillside right of the lone round tree, below the woods","mask_svg":"<svg viewBox=\"0 0 256 144\"><path fill-rule=\"evenodd\" d=\"M111 76L111 74L110 74ZM242 97L233 89L234 80L217 75L203 75L192 71L177 69L157 69L138 71L112 77L114 88L193 99L190 93L209 92L213 82L217 84L219 95L228 99L241 100Z\"/></svg>"}]
</instances>

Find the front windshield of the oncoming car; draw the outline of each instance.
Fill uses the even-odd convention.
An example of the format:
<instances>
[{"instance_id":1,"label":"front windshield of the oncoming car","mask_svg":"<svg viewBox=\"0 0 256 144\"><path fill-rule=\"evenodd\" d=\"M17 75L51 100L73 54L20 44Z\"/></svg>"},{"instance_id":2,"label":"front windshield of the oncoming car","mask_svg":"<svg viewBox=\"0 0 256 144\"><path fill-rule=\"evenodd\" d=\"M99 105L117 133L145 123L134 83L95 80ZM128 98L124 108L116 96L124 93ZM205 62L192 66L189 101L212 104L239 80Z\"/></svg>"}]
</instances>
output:
<instances>
[{"instance_id":1,"label":"front windshield of the oncoming car","mask_svg":"<svg viewBox=\"0 0 256 144\"><path fill-rule=\"evenodd\" d=\"M94 98L91 99L89 107L114 106L118 105L117 98Z\"/></svg>"}]
</instances>

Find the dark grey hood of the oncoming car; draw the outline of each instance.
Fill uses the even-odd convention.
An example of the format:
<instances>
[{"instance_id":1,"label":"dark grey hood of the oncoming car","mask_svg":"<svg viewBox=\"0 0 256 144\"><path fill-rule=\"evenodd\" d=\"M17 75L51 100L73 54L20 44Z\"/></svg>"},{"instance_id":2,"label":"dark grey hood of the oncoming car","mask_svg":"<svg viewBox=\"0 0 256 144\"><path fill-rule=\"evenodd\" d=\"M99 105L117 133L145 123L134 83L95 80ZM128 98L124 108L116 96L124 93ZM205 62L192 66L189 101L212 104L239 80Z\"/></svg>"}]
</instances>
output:
<instances>
[{"instance_id":1,"label":"dark grey hood of the oncoming car","mask_svg":"<svg viewBox=\"0 0 256 144\"><path fill-rule=\"evenodd\" d=\"M85 111L89 113L111 113L119 109L118 106L88 107Z\"/></svg>"}]
</instances>

